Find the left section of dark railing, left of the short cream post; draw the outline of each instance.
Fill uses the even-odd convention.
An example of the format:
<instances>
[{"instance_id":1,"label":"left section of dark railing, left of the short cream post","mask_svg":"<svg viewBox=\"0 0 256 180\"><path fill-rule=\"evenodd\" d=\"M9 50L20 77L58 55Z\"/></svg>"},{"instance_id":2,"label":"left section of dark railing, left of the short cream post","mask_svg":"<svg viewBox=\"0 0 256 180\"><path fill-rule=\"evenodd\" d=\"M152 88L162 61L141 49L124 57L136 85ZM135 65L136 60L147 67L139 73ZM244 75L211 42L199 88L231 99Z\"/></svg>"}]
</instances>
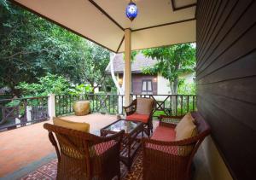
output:
<instances>
[{"instance_id":1,"label":"left section of dark railing, left of the short cream post","mask_svg":"<svg viewBox=\"0 0 256 180\"><path fill-rule=\"evenodd\" d=\"M48 119L48 96L0 100L0 131Z\"/></svg>"}]
</instances>

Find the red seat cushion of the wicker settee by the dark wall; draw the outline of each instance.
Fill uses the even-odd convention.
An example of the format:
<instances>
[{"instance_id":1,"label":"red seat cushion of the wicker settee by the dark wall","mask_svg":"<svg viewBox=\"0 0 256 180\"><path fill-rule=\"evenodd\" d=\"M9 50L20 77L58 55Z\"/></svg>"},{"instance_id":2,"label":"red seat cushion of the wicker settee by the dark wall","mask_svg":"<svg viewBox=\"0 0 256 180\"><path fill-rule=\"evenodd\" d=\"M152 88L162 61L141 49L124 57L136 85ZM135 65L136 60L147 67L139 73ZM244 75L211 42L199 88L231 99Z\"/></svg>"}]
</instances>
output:
<instances>
[{"instance_id":1,"label":"red seat cushion of the wicker settee by the dark wall","mask_svg":"<svg viewBox=\"0 0 256 180\"><path fill-rule=\"evenodd\" d=\"M164 141L164 142L172 142L175 141L176 132L174 129L165 126L158 126L156 127L153 136L151 139Z\"/></svg>"}]
</instances>

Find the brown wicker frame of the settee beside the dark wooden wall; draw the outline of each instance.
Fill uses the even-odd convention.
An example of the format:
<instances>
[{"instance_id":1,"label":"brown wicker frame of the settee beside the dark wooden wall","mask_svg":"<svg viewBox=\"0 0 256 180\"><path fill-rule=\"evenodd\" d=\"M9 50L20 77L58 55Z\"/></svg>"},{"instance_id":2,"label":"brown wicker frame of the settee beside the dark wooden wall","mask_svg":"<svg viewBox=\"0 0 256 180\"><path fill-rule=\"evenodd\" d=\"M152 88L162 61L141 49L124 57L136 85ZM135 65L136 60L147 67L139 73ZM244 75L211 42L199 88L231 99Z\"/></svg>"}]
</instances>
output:
<instances>
[{"instance_id":1,"label":"brown wicker frame of the settee beside the dark wooden wall","mask_svg":"<svg viewBox=\"0 0 256 180\"><path fill-rule=\"evenodd\" d=\"M197 135L181 141L159 141L143 138L143 179L191 179L191 164L201 142L210 133L206 121L198 113L195 119ZM160 127L175 128L173 119L181 117L160 116ZM166 122L167 121L167 122ZM163 129L164 130L164 129ZM170 133L171 136L171 133Z\"/></svg>"}]
</instances>

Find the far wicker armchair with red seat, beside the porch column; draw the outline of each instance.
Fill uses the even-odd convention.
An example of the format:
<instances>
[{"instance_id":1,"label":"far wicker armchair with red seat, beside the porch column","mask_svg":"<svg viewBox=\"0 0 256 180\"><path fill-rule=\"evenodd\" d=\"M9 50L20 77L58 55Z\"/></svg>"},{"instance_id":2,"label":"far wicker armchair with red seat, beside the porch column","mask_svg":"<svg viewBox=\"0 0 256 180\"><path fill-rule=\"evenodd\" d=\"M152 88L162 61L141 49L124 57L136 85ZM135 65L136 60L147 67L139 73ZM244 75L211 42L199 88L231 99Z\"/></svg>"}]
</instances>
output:
<instances>
[{"instance_id":1,"label":"far wicker armchair with red seat, beside the porch column","mask_svg":"<svg viewBox=\"0 0 256 180\"><path fill-rule=\"evenodd\" d=\"M155 102L154 99L151 98L141 98L143 100L146 100L143 105L139 105L140 109L143 109L143 106L148 106L150 108L149 112L147 113L137 113L137 99L133 100L131 104L128 107L125 108L126 113L126 119L127 120L137 120L141 121L144 124L144 131L148 136L150 136L150 132L153 131L153 124L152 124L152 118L155 108Z\"/></svg>"}]
</instances>

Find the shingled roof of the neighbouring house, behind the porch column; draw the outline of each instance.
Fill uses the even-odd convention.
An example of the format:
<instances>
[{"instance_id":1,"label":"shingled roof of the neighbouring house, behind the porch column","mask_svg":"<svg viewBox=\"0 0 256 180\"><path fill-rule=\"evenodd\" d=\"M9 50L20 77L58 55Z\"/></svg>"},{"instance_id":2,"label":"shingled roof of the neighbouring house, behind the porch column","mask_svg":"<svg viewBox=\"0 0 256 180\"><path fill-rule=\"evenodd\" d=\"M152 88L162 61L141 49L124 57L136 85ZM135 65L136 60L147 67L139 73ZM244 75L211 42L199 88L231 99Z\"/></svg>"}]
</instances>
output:
<instances>
[{"instance_id":1,"label":"shingled roof of the neighbouring house, behind the porch column","mask_svg":"<svg viewBox=\"0 0 256 180\"><path fill-rule=\"evenodd\" d=\"M155 59L144 56L142 53L138 53L134 57L134 61L131 63L131 73L142 73L144 67L152 67L156 63ZM119 53L113 58L113 70L114 73L123 73L125 67L124 54ZM110 63L106 68L106 72L110 73Z\"/></svg>"}]
</instances>

